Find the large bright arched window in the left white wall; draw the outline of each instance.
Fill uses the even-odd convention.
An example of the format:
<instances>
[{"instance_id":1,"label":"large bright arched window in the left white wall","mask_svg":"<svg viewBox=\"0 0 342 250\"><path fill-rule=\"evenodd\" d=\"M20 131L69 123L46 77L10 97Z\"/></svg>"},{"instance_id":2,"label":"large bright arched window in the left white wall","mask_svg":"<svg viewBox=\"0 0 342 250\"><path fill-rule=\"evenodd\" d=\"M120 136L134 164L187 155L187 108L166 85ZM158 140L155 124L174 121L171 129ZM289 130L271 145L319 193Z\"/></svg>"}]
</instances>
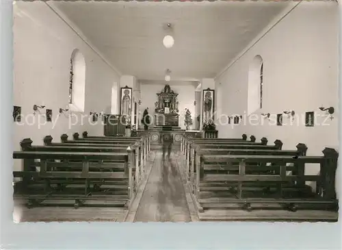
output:
<instances>
[{"instance_id":1,"label":"large bright arched window in the left white wall","mask_svg":"<svg viewBox=\"0 0 342 250\"><path fill-rule=\"evenodd\" d=\"M69 107L84 112L86 94L86 62L82 53L75 49L70 58Z\"/></svg>"}]
</instances>

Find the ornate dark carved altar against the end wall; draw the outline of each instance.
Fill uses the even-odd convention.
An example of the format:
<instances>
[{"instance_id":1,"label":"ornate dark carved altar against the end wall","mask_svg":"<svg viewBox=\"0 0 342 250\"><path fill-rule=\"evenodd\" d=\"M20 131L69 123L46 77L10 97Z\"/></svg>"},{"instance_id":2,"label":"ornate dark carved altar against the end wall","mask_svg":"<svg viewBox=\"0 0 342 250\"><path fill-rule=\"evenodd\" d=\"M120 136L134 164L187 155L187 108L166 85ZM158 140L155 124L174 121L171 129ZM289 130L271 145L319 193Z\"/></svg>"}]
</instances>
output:
<instances>
[{"instance_id":1,"label":"ornate dark carved altar against the end wall","mask_svg":"<svg viewBox=\"0 0 342 250\"><path fill-rule=\"evenodd\" d=\"M178 94L166 86L157 93L158 100L155 102L155 126L179 127Z\"/></svg>"}]
</instances>

